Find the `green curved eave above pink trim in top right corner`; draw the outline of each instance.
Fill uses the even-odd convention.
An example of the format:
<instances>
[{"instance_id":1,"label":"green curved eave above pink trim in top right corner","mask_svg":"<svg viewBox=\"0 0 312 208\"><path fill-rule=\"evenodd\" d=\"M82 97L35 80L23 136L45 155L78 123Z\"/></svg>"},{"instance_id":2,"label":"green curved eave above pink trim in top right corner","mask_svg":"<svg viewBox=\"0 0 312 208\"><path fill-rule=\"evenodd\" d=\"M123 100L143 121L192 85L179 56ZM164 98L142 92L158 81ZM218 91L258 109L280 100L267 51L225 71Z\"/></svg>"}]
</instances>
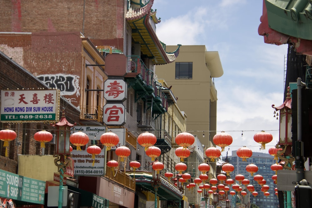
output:
<instances>
[{"instance_id":1,"label":"green curved eave above pink trim in top right corner","mask_svg":"<svg viewBox=\"0 0 312 208\"><path fill-rule=\"evenodd\" d=\"M264 0L269 27L283 34L312 40L311 3L295 3L292 0Z\"/></svg>"}]
</instances>

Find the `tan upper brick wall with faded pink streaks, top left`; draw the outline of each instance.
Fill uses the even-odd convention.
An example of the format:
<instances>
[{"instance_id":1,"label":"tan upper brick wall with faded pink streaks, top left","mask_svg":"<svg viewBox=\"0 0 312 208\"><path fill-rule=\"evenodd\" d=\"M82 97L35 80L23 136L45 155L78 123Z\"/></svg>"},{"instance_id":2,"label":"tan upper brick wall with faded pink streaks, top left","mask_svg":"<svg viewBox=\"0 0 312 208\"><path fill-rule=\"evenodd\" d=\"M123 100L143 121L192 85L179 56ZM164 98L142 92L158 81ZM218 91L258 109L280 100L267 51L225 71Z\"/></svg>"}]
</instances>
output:
<instances>
[{"instance_id":1,"label":"tan upper brick wall with faded pink streaks, top left","mask_svg":"<svg viewBox=\"0 0 312 208\"><path fill-rule=\"evenodd\" d=\"M95 45L123 51L127 0L0 0L0 5L3 32L79 31Z\"/></svg>"}]
</instances>

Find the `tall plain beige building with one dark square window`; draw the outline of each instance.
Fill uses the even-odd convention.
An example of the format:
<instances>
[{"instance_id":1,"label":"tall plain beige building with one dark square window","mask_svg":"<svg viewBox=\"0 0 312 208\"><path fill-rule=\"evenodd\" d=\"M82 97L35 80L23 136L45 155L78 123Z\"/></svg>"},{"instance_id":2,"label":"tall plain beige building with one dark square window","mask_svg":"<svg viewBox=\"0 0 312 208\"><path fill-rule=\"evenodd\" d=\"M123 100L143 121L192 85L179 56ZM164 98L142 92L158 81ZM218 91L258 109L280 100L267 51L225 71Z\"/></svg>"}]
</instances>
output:
<instances>
[{"instance_id":1,"label":"tall plain beige building with one dark square window","mask_svg":"<svg viewBox=\"0 0 312 208\"><path fill-rule=\"evenodd\" d=\"M166 46L174 51L177 46ZM197 134L200 142L211 146L217 128L217 90L214 78L223 75L218 51L202 46L181 46L173 63L156 65L158 79L173 85L179 108L188 115L186 129Z\"/></svg>"}]
</instances>

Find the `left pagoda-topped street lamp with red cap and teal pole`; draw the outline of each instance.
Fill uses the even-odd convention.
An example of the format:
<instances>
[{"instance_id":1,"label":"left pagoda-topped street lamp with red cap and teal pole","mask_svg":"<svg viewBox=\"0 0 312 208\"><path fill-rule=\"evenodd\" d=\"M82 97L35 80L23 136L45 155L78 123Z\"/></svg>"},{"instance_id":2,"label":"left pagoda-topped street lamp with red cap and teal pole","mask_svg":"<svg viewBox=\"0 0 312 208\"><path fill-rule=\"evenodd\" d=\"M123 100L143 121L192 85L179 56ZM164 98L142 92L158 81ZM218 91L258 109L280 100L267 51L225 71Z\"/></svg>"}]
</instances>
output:
<instances>
[{"instance_id":1,"label":"left pagoda-topped street lamp with red cap and teal pole","mask_svg":"<svg viewBox=\"0 0 312 208\"><path fill-rule=\"evenodd\" d=\"M76 123L71 124L67 121L64 109L60 121L52 125L53 127L56 127L56 155L53 156L56 158L54 159L54 164L58 167L58 171L60 172L58 208L62 208L63 203L64 172L66 167L71 162L69 137L71 134L71 127L73 127L74 125L76 125Z\"/></svg>"}]
</instances>

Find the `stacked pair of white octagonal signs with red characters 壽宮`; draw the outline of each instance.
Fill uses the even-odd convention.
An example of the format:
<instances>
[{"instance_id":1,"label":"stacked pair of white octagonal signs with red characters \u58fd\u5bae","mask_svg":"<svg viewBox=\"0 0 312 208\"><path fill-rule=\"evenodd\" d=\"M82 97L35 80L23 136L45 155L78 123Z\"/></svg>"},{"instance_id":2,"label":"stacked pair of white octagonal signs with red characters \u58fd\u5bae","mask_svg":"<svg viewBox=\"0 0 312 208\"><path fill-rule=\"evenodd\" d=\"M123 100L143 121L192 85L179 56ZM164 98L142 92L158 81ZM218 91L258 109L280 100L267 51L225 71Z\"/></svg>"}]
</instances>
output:
<instances>
[{"instance_id":1,"label":"stacked pair of white octagonal signs with red characters \u58fd\u5bae","mask_svg":"<svg viewBox=\"0 0 312 208\"><path fill-rule=\"evenodd\" d=\"M108 79L104 83L103 122L108 126L125 124L125 107L122 102L127 99L127 84L122 79Z\"/></svg>"}]
</instances>

